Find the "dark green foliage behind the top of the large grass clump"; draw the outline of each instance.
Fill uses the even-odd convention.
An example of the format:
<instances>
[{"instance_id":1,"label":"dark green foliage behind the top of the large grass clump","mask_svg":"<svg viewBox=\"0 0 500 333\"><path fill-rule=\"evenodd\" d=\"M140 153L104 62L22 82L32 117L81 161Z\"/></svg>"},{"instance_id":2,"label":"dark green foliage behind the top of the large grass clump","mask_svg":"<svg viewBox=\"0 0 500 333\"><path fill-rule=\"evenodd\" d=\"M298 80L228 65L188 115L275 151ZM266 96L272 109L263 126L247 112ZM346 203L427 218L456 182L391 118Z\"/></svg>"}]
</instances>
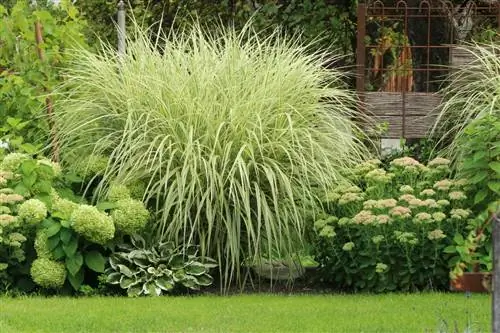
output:
<instances>
[{"instance_id":1,"label":"dark green foliage behind the top of the large grass clump","mask_svg":"<svg viewBox=\"0 0 500 333\"><path fill-rule=\"evenodd\" d=\"M321 44L354 54L356 41L356 2L335 4L328 0L255 1L243 0L170 0L128 1L127 12L145 26L156 26L161 20L165 32L177 30L198 17L203 24L233 25L242 29L252 18L257 30L281 26L287 33L300 33L305 42L321 38ZM78 1L76 6L93 28L92 33L116 45L115 2ZM271 28L271 29L270 29ZM130 33L133 33L131 29ZM91 36L92 37L92 36Z\"/></svg>"}]
</instances>

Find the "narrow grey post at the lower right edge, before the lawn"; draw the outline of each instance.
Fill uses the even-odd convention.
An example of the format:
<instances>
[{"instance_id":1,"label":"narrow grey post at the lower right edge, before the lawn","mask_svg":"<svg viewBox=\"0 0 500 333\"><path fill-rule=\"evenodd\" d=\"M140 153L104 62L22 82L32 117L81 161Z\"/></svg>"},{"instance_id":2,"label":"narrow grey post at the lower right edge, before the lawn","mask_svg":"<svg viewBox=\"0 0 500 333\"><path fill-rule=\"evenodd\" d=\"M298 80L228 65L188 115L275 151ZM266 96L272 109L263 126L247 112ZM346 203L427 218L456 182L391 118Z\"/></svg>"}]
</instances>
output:
<instances>
[{"instance_id":1,"label":"narrow grey post at the lower right edge, before the lawn","mask_svg":"<svg viewBox=\"0 0 500 333\"><path fill-rule=\"evenodd\" d=\"M493 214L493 287L492 327L500 333L500 211Z\"/></svg>"}]
</instances>

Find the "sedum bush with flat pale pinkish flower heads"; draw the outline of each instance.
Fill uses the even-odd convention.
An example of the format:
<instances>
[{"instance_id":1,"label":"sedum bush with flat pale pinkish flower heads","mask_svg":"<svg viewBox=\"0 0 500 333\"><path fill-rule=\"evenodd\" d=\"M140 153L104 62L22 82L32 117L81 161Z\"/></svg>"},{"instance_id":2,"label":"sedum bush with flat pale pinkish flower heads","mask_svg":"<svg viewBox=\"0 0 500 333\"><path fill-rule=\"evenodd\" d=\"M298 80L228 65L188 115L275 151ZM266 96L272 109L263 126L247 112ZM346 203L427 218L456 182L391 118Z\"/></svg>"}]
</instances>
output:
<instances>
[{"instance_id":1,"label":"sedum bush with flat pale pinkish flower heads","mask_svg":"<svg viewBox=\"0 0 500 333\"><path fill-rule=\"evenodd\" d=\"M467 182L448 178L449 163L405 157L388 170L377 160L358 165L357 186L330 192L314 224L322 280L341 290L447 288L452 263L443 250L467 234L473 217Z\"/></svg>"}]
</instances>

